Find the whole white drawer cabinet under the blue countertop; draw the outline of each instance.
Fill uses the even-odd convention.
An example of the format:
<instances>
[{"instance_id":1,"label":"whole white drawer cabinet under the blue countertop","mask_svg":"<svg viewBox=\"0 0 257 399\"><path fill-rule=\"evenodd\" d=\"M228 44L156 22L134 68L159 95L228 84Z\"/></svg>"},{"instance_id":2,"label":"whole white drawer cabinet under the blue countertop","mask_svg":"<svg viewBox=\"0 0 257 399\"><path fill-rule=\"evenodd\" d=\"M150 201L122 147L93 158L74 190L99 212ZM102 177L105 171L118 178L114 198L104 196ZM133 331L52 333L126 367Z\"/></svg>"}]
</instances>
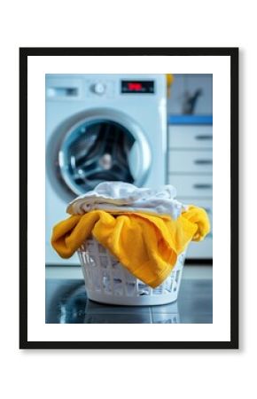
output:
<instances>
[{"instance_id":1,"label":"whole white drawer cabinet under the blue countertop","mask_svg":"<svg viewBox=\"0 0 257 399\"><path fill-rule=\"evenodd\" d=\"M212 125L170 124L168 127L167 182L177 190L177 199L204 207L213 218ZM191 243L189 259L212 259L212 231L202 242Z\"/></svg>"}]
</instances>

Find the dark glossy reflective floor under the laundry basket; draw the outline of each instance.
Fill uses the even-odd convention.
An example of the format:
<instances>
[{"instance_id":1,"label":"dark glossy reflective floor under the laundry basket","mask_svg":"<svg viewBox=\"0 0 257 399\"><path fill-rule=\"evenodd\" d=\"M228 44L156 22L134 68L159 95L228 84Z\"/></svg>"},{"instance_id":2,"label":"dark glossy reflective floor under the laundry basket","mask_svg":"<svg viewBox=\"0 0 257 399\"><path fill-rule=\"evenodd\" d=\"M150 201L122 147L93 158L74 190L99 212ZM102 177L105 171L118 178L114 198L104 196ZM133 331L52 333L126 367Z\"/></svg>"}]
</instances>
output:
<instances>
[{"instance_id":1,"label":"dark glossy reflective floor under the laundry basket","mask_svg":"<svg viewBox=\"0 0 257 399\"><path fill-rule=\"evenodd\" d=\"M48 324L210 324L213 323L211 279L182 280L178 300L161 306L117 306L90 301L82 279L46 280Z\"/></svg>"}]
</instances>

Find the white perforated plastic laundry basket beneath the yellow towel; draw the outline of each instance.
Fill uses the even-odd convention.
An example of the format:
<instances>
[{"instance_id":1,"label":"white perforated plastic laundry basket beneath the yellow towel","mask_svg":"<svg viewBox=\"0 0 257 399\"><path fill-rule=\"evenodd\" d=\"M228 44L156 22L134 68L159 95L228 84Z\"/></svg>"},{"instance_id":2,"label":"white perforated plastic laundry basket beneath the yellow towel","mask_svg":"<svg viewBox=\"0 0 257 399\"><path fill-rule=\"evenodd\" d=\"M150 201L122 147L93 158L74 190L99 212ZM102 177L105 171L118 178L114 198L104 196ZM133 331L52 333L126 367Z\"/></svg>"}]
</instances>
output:
<instances>
[{"instance_id":1,"label":"white perforated plastic laundry basket beneath the yellow towel","mask_svg":"<svg viewBox=\"0 0 257 399\"><path fill-rule=\"evenodd\" d=\"M121 265L97 240L88 239L78 250L88 297L115 305L163 305L177 299L185 252L178 256L169 277L158 287L147 286Z\"/></svg>"}]
</instances>

